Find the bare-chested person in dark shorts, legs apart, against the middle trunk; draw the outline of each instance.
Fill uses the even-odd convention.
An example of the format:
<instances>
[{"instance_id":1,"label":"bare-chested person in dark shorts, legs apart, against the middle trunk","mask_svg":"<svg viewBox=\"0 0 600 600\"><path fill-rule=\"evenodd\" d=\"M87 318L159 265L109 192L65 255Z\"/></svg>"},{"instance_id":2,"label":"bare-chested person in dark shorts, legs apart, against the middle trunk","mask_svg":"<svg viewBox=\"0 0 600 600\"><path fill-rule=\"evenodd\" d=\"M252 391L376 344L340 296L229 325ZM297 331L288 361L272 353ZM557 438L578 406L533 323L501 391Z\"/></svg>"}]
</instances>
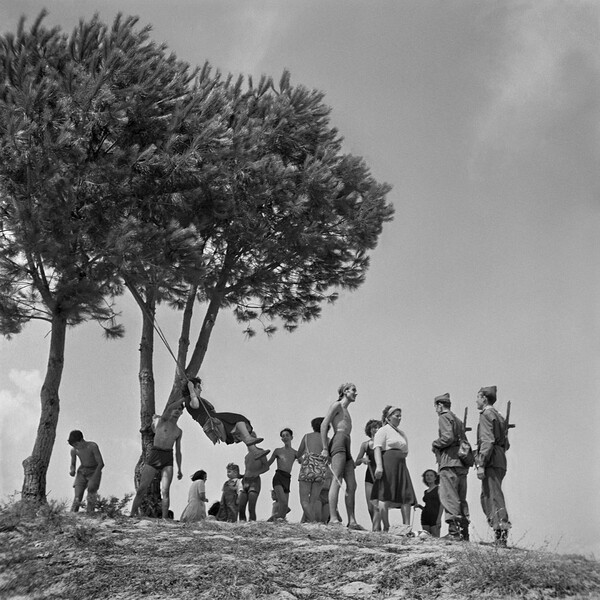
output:
<instances>
[{"instance_id":1,"label":"bare-chested person in dark shorts, legs apart, against the middle trunk","mask_svg":"<svg viewBox=\"0 0 600 600\"><path fill-rule=\"evenodd\" d=\"M177 426L177 420L183 413L181 402L167 406L165 412L155 421L154 445L146 455L146 461L140 476L133 504L131 516L138 514L140 504L144 499L148 487L158 471L161 473L160 494L162 496L162 517L169 517L170 490L173 481L173 444L175 445L175 460L177 461L177 479L181 479L181 436L182 431Z\"/></svg>"}]
</instances>

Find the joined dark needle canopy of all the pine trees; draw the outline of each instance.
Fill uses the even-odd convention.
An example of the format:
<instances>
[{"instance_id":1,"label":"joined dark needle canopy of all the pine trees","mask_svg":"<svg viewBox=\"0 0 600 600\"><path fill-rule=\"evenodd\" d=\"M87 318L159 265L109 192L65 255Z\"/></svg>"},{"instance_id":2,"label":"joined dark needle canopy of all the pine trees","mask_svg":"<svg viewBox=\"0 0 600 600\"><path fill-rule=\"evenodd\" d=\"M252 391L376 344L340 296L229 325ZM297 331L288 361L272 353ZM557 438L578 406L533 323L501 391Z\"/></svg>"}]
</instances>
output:
<instances>
[{"instance_id":1,"label":"joined dark needle canopy of all the pine trees","mask_svg":"<svg viewBox=\"0 0 600 600\"><path fill-rule=\"evenodd\" d=\"M38 436L56 428L64 328L95 320L122 335L126 288L144 319L160 302L185 308L190 377L221 308L248 335L253 320L294 330L363 283L393 217L390 186L344 153L323 92L288 72L255 82L192 68L135 17L71 33L44 18L0 36L0 332L45 319L60 334L45 386L56 407ZM196 300L208 308L188 362ZM153 408L152 395L146 420ZM38 470L52 443L36 443Z\"/></svg>"}]
</instances>

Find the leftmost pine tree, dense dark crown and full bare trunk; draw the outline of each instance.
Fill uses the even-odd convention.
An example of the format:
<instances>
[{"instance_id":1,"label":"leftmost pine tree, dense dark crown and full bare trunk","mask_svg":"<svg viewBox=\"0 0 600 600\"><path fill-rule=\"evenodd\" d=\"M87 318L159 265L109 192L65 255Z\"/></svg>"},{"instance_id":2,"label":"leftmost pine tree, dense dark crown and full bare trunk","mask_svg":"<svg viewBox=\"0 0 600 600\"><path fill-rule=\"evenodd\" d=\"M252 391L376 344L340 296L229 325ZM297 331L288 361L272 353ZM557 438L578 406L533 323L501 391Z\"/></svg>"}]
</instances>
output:
<instances>
[{"instance_id":1,"label":"leftmost pine tree, dense dark crown and full bare trunk","mask_svg":"<svg viewBox=\"0 0 600 600\"><path fill-rule=\"evenodd\" d=\"M94 320L109 337L122 334L111 303L123 291L122 226L193 152L173 131L196 76L136 18L109 27L94 17L67 35L44 16L0 38L0 331L16 334L31 319L51 327L24 461L23 499L36 501L45 500L67 327ZM149 220L155 208L145 203Z\"/></svg>"}]
</instances>

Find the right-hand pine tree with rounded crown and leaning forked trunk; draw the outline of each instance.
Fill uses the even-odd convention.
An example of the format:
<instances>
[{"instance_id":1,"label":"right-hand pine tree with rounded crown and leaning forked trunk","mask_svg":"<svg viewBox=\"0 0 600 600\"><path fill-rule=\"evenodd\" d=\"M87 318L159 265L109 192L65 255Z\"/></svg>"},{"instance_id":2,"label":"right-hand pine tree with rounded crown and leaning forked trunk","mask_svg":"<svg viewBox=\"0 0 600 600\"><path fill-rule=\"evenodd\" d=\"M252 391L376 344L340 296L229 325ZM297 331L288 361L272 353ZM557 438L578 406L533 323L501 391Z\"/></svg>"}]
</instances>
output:
<instances>
[{"instance_id":1,"label":"right-hand pine tree with rounded crown and leaning forked trunk","mask_svg":"<svg viewBox=\"0 0 600 600\"><path fill-rule=\"evenodd\" d=\"M257 85L250 79L246 89L241 78L226 85L229 152L220 177L188 197L210 239L182 318L178 358L187 377L198 373L222 308L248 323L247 335L255 333L252 321L270 335L275 322L293 331L317 318L323 302L335 302L340 289L360 286L367 253L394 212L390 186L375 181L362 158L343 153L322 92L292 86L288 72L277 88L267 77ZM194 297L206 312L188 358ZM181 384L177 372L169 402Z\"/></svg>"}]
</instances>

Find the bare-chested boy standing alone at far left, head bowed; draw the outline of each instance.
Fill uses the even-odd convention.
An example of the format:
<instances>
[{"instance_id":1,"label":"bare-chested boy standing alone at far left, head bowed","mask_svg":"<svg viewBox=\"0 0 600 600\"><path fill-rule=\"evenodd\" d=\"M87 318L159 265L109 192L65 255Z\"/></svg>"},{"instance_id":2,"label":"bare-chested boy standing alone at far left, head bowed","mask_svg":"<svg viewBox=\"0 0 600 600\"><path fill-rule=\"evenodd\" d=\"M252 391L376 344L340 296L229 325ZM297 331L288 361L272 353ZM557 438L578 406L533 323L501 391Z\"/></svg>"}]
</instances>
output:
<instances>
[{"instance_id":1,"label":"bare-chested boy standing alone at far left, head bowed","mask_svg":"<svg viewBox=\"0 0 600 600\"><path fill-rule=\"evenodd\" d=\"M86 442L83 439L83 433L75 429L69 434L67 440L71 448L71 477L75 477L73 487L75 488L75 498L73 499L73 505L71 506L71 512L77 512L81 506L83 500L83 494L87 489L87 512L94 512L96 506L96 499L98 495L98 488L100 487L100 479L102 477L102 469L104 468L104 461L102 460L102 454L96 442ZM77 469L77 475L75 475L75 465L77 463L77 457L79 457L79 468Z\"/></svg>"}]
</instances>

